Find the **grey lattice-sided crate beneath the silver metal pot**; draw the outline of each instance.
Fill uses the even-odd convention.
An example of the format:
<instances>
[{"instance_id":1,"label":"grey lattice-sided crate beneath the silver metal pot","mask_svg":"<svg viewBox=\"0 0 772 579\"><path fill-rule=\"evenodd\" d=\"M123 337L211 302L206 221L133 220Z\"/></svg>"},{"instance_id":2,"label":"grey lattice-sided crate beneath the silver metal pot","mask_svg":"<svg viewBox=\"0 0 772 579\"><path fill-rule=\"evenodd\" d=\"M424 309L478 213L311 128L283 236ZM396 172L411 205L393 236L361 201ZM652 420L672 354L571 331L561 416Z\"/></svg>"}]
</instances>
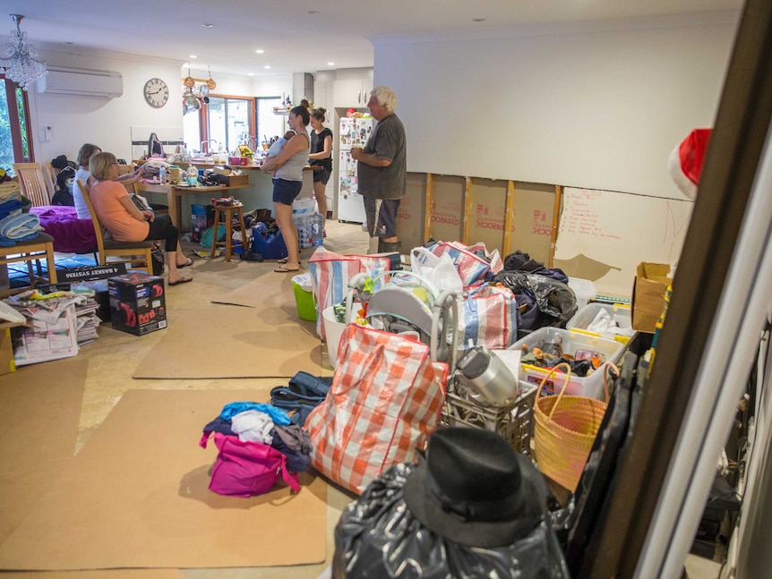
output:
<instances>
[{"instance_id":1,"label":"grey lattice-sided crate beneath the silver metal pot","mask_svg":"<svg viewBox=\"0 0 772 579\"><path fill-rule=\"evenodd\" d=\"M516 451L528 454L534 429L536 387L520 394L506 406L481 406L467 396L449 388L442 406L440 426L468 426L493 430L506 439Z\"/></svg>"}]
</instances>

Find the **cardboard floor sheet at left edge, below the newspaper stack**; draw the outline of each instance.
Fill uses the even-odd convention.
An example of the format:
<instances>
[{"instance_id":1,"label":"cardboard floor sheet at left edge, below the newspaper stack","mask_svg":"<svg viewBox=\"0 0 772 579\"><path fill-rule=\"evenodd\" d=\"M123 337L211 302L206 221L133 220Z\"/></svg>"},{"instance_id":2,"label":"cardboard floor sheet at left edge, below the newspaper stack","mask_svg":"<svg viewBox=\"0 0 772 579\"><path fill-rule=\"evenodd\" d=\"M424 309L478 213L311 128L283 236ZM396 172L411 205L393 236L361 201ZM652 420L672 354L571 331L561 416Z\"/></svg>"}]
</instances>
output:
<instances>
[{"instance_id":1,"label":"cardboard floor sheet at left edge, below the newspaper stack","mask_svg":"<svg viewBox=\"0 0 772 579\"><path fill-rule=\"evenodd\" d=\"M0 377L0 543L73 458L87 369L67 358Z\"/></svg>"}]
</instances>

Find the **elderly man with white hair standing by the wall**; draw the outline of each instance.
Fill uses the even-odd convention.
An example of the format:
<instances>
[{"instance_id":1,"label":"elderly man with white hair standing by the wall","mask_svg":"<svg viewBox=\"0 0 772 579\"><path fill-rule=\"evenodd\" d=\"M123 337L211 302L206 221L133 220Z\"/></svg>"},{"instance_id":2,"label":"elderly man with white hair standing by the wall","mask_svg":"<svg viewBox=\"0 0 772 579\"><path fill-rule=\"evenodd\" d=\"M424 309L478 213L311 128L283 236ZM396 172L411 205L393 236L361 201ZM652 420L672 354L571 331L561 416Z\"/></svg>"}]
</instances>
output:
<instances>
[{"instance_id":1,"label":"elderly man with white hair standing by the wall","mask_svg":"<svg viewBox=\"0 0 772 579\"><path fill-rule=\"evenodd\" d=\"M367 230L378 237L378 252L399 251L397 210L405 196L407 173L405 127L394 114L397 97L389 87L375 87L367 107L378 123L365 149L351 149L357 161L358 191L365 198Z\"/></svg>"}]
</instances>

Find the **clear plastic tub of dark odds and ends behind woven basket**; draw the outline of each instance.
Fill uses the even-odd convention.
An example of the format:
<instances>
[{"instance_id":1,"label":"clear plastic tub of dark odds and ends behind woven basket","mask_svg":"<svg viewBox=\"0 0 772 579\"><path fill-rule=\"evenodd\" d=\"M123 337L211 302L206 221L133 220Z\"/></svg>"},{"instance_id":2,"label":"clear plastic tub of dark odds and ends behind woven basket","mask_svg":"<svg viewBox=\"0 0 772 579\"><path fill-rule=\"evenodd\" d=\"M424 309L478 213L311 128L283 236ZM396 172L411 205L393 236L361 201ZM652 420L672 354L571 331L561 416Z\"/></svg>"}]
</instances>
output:
<instances>
[{"instance_id":1,"label":"clear plastic tub of dark odds and ends behind woven basket","mask_svg":"<svg viewBox=\"0 0 772 579\"><path fill-rule=\"evenodd\" d=\"M523 345L528 345L528 349L530 349L543 342L551 342L555 334L561 335L562 349L565 353L573 355L577 350L591 350L603 354L605 358L605 363L589 376L582 378L572 374L569 385L566 387L566 394L588 396L590 398L597 398L598 400L605 400L603 372L605 371L605 364L607 362L616 362L622 354L624 346L619 342L579 330L550 327L534 330L528 334L528 336L525 336L513 345L510 345L510 350L519 350ZM549 370L544 368L539 368L531 364L520 364L519 379L521 382L525 382L525 384L520 384L520 386L522 388L528 388L532 387L534 384L538 385L548 373ZM563 380L562 374L551 376L550 379L545 382L547 393L557 394L560 392Z\"/></svg>"}]
</instances>

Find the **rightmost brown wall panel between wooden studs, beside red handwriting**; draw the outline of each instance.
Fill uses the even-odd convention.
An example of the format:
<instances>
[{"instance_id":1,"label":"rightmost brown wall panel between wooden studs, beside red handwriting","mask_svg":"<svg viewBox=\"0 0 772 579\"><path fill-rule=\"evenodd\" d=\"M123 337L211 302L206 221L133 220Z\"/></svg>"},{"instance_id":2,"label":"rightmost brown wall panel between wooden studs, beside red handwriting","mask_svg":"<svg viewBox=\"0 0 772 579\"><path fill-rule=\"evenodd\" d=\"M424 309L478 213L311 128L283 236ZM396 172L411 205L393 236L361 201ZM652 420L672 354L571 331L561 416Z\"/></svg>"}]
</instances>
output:
<instances>
[{"instance_id":1,"label":"rightmost brown wall panel between wooden studs, beside red handwriting","mask_svg":"<svg viewBox=\"0 0 772 579\"><path fill-rule=\"evenodd\" d=\"M502 251L524 251L531 259L545 265L550 260L555 186L543 183L515 182L510 246Z\"/></svg>"}]
</instances>

